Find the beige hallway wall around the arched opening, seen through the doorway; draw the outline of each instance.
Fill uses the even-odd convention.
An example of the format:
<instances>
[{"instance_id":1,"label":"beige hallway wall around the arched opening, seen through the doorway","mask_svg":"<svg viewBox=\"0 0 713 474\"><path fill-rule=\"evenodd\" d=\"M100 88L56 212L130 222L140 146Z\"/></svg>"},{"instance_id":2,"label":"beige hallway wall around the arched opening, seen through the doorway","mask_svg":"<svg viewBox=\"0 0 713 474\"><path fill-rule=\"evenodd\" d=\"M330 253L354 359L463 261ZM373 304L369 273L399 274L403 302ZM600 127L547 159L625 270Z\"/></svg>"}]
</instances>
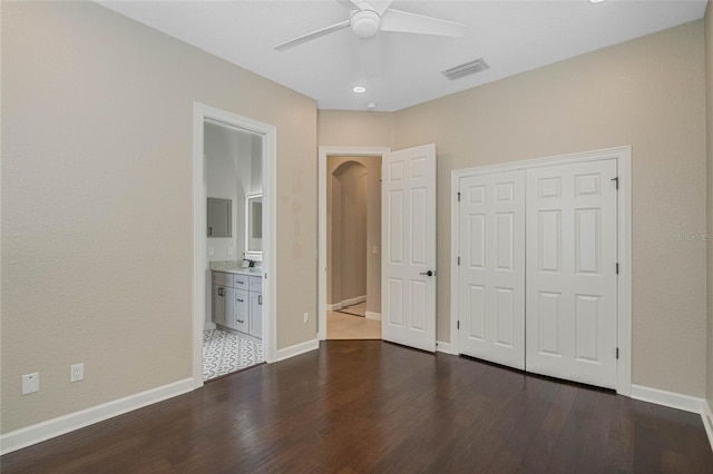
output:
<instances>
[{"instance_id":1,"label":"beige hallway wall around the arched opening, seen through the doorway","mask_svg":"<svg viewBox=\"0 0 713 474\"><path fill-rule=\"evenodd\" d=\"M342 234L341 229L341 192L333 189L334 171L343 164L355 162L364 167L367 171L367 196L364 199L367 214L367 229L364 243L365 258L365 294L367 310L381 314L381 158L380 157L328 157L326 161L326 299L329 304L339 303L350 296L343 296L339 278L333 275L344 270L341 259L338 257L335 246L342 245L342 239L335 238ZM339 203L339 204L338 204ZM338 204L339 209L334 209ZM340 221L335 221L340 214ZM334 217L332 217L334 216ZM373 248L377 253L373 253ZM361 296L354 294L353 296Z\"/></svg>"}]
</instances>

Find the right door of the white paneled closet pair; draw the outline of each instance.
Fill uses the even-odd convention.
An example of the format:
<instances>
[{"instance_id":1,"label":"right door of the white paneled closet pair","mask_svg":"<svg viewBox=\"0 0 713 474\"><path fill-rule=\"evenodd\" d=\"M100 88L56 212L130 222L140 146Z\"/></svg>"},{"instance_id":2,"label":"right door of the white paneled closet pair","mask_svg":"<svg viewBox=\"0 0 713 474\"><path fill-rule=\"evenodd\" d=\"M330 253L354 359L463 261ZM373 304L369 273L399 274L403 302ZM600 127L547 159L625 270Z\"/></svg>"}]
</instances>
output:
<instances>
[{"instance_id":1,"label":"right door of the white paneled closet pair","mask_svg":"<svg viewBox=\"0 0 713 474\"><path fill-rule=\"evenodd\" d=\"M527 371L616 387L616 160L527 170Z\"/></svg>"}]
</instances>

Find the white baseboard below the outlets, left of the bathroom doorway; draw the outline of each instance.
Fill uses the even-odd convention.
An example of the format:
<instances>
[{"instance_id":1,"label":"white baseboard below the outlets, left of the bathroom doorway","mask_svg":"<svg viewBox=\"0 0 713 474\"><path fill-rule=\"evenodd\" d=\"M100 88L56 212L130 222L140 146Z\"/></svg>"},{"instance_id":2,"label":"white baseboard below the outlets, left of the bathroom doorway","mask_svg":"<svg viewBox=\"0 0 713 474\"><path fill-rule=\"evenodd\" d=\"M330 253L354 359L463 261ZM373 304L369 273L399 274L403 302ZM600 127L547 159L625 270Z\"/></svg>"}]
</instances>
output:
<instances>
[{"instance_id":1,"label":"white baseboard below the outlets, left of the bathroom doorway","mask_svg":"<svg viewBox=\"0 0 713 474\"><path fill-rule=\"evenodd\" d=\"M185 394L193 389L193 378L185 378L168 385L152 388L146 392L92 406L91 408L70 413L36 425L6 433L0 436L0 454L11 453L22 447L31 446L49 438L74 432L75 429L104 422L105 419L113 418L117 415Z\"/></svg>"}]
</instances>

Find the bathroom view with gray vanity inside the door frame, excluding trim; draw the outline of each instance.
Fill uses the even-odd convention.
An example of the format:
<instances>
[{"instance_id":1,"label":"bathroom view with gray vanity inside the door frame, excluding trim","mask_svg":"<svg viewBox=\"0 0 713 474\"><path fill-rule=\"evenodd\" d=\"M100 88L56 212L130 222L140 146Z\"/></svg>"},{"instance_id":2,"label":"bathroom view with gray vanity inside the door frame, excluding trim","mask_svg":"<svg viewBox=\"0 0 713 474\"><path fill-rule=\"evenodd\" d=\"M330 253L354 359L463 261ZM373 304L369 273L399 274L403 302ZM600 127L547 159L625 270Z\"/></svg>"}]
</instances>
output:
<instances>
[{"instance_id":1,"label":"bathroom view with gray vanity inside the door frame, excluding trim","mask_svg":"<svg viewBox=\"0 0 713 474\"><path fill-rule=\"evenodd\" d=\"M203 379L263 364L262 136L207 119Z\"/></svg>"}]
</instances>

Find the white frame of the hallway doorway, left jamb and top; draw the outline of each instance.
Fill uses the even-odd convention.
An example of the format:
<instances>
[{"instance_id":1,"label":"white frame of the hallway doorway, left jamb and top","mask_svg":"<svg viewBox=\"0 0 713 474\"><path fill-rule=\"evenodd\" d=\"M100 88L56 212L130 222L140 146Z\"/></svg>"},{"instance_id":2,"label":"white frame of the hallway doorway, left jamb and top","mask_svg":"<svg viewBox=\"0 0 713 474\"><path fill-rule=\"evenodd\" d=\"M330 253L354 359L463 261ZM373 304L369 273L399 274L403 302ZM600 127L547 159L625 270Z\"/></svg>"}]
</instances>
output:
<instances>
[{"instance_id":1,"label":"white frame of the hallway doorway, left jamb and top","mask_svg":"<svg viewBox=\"0 0 713 474\"><path fill-rule=\"evenodd\" d=\"M320 147L318 156L319 199L319 285L318 285L318 330L320 340L326 339L326 158L328 157L381 157L391 148L381 147Z\"/></svg>"}]
</instances>

